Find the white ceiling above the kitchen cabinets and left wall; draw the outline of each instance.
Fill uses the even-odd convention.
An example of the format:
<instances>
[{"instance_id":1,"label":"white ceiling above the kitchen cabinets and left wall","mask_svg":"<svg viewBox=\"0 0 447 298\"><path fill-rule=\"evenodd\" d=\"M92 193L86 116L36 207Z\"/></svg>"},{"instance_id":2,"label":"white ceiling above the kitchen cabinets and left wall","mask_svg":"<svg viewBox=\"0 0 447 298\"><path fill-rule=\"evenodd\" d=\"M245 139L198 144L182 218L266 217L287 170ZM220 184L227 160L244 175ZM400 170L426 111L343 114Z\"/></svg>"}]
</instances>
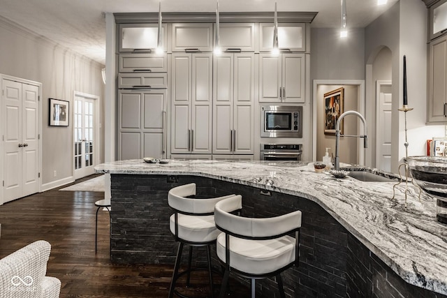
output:
<instances>
[{"instance_id":1,"label":"white ceiling above the kitchen cabinets and left wall","mask_svg":"<svg viewBox=\"0 0 447 298\"><path fill-rule=\"evenodd\" d=\"M346 0L349 28L363 28L393 6ZM277 0L277 10L318 12L312 27L339 28L340 0ZM105 64L103 13L158 12L159 0L1 0L0 16ZM161 0L162 12L214 12L216 0ZM221 12L273 11L273 0L220 0Z\"/></svg>"}]
</instances>

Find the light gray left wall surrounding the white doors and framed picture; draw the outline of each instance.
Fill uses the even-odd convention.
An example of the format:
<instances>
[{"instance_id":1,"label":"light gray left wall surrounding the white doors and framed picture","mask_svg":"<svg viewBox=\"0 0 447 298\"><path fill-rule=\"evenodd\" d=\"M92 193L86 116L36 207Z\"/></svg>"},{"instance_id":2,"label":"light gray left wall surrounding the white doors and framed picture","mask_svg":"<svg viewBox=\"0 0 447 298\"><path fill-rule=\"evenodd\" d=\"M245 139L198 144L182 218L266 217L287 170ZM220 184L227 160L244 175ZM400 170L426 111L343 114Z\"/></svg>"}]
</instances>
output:
<instances>
[{"instance_id":1,"label":"light gray left wall surrounding the white doors and framed picture","mask_svg":"<svg viewBox=\"0 0 447 298\"><path fill-rule=\"evenodd\" d=\"M0 73L42 83L43 188L73 180L73 114L68 127L48 126L48 98L68 100L73 113L73 91L79 91L99 96L102 107L103 66L7 20L0 19L0 40Z\"/></svg>"}]
</instances>

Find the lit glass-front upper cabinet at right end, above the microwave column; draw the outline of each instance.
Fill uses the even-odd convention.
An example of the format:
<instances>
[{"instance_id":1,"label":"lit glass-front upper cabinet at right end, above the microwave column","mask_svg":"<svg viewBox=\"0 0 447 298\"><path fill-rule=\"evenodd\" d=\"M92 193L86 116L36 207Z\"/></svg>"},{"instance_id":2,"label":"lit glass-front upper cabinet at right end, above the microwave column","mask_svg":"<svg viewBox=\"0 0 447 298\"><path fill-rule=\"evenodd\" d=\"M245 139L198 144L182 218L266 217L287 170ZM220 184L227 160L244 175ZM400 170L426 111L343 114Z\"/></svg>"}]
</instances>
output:
<instances>
[{"instance_id":1,"label":"lit glass-front upper cabinet at right end, above the microwave column","mask_svg":"<svg viewBox=\"0 0 447 298\"><path fill-rule=\"evenodd\" d=\"M305 52L306 24L278 24L278 45L280 50ZM259 50L270 52L273 47L273 24L261 23L259 29Z\"/></svg>"}]
</instances>

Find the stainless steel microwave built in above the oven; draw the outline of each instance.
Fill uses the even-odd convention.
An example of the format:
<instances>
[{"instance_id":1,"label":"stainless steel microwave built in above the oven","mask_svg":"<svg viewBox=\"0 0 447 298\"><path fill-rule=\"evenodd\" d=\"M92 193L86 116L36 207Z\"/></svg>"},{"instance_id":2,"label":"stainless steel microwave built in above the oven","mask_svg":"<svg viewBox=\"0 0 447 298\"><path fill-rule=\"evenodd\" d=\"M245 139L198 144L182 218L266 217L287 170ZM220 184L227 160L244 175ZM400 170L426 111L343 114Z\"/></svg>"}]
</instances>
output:
<instances>
[{"instance_id":1,"label":"stainless steel microwave built in above the oven","mask_svg":"<svg viewBox=\"0 0 447 298\"><path fill-rule=\"evenodd\" d=\"M261 137L302 137L302 107L261 105Z\"/></svg>"}]
</instances>

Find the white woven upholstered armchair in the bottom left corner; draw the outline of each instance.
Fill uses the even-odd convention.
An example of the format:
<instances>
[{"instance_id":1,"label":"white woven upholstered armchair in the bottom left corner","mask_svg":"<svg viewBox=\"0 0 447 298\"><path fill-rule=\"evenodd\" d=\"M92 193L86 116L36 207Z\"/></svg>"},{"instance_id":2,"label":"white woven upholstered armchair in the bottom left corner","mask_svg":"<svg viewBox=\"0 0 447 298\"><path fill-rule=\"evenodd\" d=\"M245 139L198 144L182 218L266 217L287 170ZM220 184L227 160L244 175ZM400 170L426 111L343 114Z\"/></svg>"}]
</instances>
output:
<instances>
[{"instance_id":1,"label":"white woven upholstered armchair in the bottom left corner","mask_svg":"<svg viewBox=\"0 0 447 298\"><path fill-rule=\"evenodd\" d=\"M61 281L45 276L50 250L51 246L47 241L39 240L1 259L0 297L59 297Z\"/></svg>"}]
</instances>

